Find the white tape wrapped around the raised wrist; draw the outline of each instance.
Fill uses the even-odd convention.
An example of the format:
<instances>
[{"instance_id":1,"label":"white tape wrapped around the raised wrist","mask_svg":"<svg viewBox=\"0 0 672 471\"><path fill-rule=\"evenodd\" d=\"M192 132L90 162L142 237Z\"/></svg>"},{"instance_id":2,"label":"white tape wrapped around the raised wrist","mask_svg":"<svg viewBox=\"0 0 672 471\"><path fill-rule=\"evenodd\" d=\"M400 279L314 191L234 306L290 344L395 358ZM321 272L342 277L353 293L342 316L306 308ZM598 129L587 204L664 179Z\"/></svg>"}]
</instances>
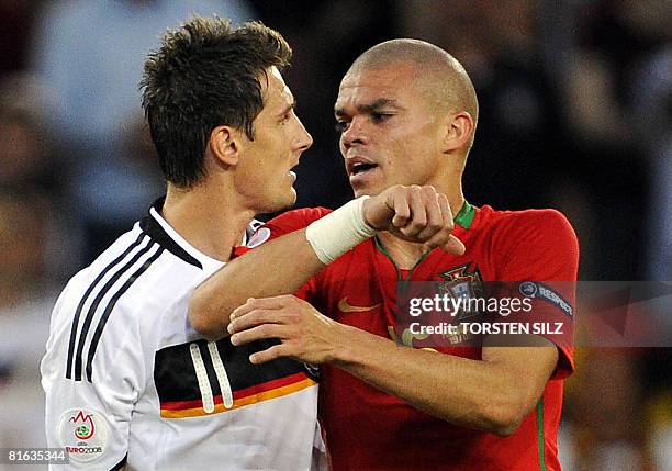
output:
<instances>
[{"instance_id":1,"label":"white tape wrapped around the raised wrist","mask_svg":"<svg viewBox=\"0 0 672 471\"><path fill-rule=\"evenodd\" d=\"M352 200L305 228L305 238L324 265L376 234L376 229L365 221L363 203L369 197Z\"/></svg>"}]
</instances>

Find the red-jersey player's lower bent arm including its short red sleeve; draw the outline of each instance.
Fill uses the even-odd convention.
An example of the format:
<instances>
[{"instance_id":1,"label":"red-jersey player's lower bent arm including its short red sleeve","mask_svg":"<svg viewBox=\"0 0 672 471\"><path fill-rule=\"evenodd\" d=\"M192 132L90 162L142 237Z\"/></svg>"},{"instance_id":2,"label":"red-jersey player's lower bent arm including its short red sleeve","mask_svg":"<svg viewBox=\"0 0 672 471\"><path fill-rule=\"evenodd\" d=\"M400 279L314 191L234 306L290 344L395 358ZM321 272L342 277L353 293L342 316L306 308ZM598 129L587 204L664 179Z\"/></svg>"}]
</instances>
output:
<instances>
[{"instance_id":1,"label":"red-jersey player's lower bent arm including its short red sleeve","mask_svg":"<svg viewBox=\"0 0 672 471\"><path fill-rule=\"evenodd\" d=\"M558 212L518 215L500 229L497 244L504 256L499 263L501 279L576 279L576 236ZM573 289L564 299L573 303ZM535 303L535 313L541 318L548 310L561 312L553 303ZM539 401L550 375L562 368L559 355L571 362L565 348L535 335L489 336L481 360L399 347L387 338L336 323L293 296L251 300L231 317L234 345L258 338L281 341L253 355L253 362L279 357L331 362L429 414L500 435L515 431Z\"/></svg>"}]
</instances>

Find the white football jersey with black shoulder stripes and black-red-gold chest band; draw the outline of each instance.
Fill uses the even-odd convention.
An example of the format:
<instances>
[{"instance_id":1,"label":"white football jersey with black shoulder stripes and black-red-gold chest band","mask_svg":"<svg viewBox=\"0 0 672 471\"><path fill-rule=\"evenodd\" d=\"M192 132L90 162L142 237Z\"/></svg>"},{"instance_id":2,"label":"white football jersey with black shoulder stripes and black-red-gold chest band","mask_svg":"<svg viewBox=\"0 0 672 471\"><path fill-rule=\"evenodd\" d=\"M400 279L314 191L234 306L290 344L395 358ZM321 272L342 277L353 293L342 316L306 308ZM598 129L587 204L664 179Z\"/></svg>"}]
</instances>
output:
<instances>
[{"instance_id":1,"label":"white football jersey with black shoulder stripes and black-red-gold chest band","mask_svg":"<svg viewBox=\"0 0 672 471\"><path fill-rule=\"evenodd\" d=\"M69 281L42 361L47 442L70 457L54 469L316 467L313 369L251 365L271 341L208 341L189 323L193 289L223 265L153 208Z\"/></svg>"}]
</instances>

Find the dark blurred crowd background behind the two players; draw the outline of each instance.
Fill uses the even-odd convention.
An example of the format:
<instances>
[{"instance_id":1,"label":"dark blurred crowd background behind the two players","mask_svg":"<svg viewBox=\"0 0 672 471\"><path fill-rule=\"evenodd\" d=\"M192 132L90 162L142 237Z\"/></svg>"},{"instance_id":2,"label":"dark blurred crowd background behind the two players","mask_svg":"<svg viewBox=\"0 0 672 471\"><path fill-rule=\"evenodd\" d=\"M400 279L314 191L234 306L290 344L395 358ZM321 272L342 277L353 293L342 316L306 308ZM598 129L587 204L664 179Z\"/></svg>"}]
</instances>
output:
<instances>
[{"instance_id":1,"label":"dark blurred crowd background behind the two players","mask_svg":"<svg viewBox=\"0 0 672 471\"><path fill-rule=\"evenodd\" d=\"M672 280L669 1L0 0L0 448L44 444L37 365L58 291L164 191L137 83L189 13L261 20L292 46L284 77L315 142L299 206L351 198L332 112L348 66L416 37L477 89L471 203L561 210L580 280ZM567 470L672 470L671 351L578 352Z\"/></svg>"}]
</instances>

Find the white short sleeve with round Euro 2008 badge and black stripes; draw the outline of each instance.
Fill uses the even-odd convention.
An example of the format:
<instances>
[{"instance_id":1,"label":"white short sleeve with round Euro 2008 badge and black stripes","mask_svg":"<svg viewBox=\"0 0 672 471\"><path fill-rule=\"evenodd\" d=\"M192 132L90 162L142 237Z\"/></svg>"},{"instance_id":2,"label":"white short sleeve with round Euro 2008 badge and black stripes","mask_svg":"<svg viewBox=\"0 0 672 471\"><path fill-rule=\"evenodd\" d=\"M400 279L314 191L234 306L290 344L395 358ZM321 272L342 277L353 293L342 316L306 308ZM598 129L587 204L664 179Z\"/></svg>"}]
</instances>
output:
<instances>
[{"instance_id":1,"label":"white short sleeve with round Euro 2008 badge and black stripes","mask_svg":"<svg viewBox=\"0 0 672 471\"><path fill-rule=\"evenodd\" d=\"M41 365L47 444L69 452L70 463L59 470L119 469L144 384L143 344L121 305L101 329L102 317L89 316L83 290L71 289L74 281L54 307Z\"/></svg>"}]
</instances>

